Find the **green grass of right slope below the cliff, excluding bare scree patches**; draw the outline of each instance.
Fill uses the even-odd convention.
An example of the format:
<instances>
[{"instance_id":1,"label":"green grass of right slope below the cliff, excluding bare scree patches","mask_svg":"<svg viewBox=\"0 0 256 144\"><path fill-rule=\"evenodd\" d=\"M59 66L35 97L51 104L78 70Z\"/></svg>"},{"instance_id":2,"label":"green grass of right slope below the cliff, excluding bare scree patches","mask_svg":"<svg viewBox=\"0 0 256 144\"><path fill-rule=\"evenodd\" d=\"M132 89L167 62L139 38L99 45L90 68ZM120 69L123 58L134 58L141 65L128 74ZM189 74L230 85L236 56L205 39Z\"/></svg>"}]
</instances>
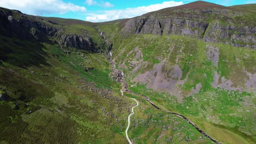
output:
<instances>
[{"instance_id":1,"label":"green grass of right slope below the cliff, excluding bare scree patches","mask_svg":"<svg viewBox=\"0 0 256 144\"><path fill-rule=\"evenodd\" d=\"M184 83L184 86L179 86L184 95L182 103L179 103L176 96L170 93L155 92L152 89L147 89L145 85L132 87L130 88L132 91L149 96L151 100L165 110L179 112L189 117L200 128L221 142L255 142L254 110L252 107L255 103L253 102L252 105L245 104L246 99L255 101L253 91L247 89L244 92L228 92L225 89L211 86L214 71L216 71L220 77L224 76L226 79L230 79L235 83L235 86L243 87L244 79L248 79L243 70L247 70L251 74L255 73L255 68L252 67L255 65L255 50L231 47L225 44L206 44L203 41L175 35L133 35L129 38L120 39L112 37L112 35L118 35L118 31L115 30L118 29L118 23L115 25L112 23L111 26L109 28L108 25L102 25L100 29L106 32L108 38L112 39L117 67L118 64L125 63L126 68L123 70L127 75L128 83L138 74L153 70L154 64L158 64L164 58L167 58L166 70L168 67L178 64L183 71L182 79L188 75L188 81ZM114 26L116 27L113 28ZM212 45L219 49L217 68L206 58L206 45ZM143 61L147 61L147 64L136 73L131 74L133 68L129 66L129 61L136 59L136 53L131 51L137 46L143 53ZM170 47L174 47L172 52L168 51ZM129 52L131 52L130 55L128 55ZM176 63L177 57L179 59ZM237 61L237 59L240 60ZM190 65L189 63L193 64ZM237 77L237 75L239 76ZM197 83L202 83L200 92L188 97L191 88L195 88ZM134 83L130 83L130 85L132 84Z\"/></svg>"}]
</instances>

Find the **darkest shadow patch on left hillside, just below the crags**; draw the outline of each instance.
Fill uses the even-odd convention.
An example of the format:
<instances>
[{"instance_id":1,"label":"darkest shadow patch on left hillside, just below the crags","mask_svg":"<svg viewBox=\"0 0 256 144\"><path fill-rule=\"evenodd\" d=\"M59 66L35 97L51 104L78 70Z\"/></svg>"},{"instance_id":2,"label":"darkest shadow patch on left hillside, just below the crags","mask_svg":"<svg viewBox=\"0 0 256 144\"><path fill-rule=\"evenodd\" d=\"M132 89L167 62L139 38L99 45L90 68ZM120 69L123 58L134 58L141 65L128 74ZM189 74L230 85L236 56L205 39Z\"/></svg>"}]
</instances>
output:
<instances>
[{"instance_id":1,"label":"darkest shadow patch on left hillside, just below the crags","mask_svg":"<svg viewBox=\"0 0 256 144\"><path fill-rule=\"evenodd\" d=\"M0 61L20 68L50 65L45 57L44 45L37 40L21 40L15 37L0 35Z\"/></svg>"}]
</instances>

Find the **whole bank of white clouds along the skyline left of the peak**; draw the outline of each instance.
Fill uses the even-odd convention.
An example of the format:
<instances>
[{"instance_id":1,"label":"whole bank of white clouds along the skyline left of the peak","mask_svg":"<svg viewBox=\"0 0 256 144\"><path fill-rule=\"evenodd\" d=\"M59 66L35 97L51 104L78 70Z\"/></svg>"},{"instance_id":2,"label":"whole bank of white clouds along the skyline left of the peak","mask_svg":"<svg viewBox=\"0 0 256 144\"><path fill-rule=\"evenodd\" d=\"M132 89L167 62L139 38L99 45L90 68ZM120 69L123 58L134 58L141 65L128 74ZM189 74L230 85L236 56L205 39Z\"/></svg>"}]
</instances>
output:
<instances>
[{"instance_id":1,"label":"whole bank of white clouds along the skyline left of the peak","mask_svg":"<svg viewBox=\"0 0 256 144\"><path fill-rule=\"evenodd\" d=\"M84 4L97 5L100 7L113 7L114 5L109 2L96 1L96 0L84 0ZM8 9L17 9L22 13L30 15L51 15L51 14L66 14L69 11L73 11L78 15L85 15L86 21L102 22L112 21L117 19L131 18L139 16L150 11L155 11L167 7L174 7L181 5L183 2L165 1L159 4L152 4L148 6L126 8L126 9L114 9L114 10L99 10L99 11L86 11L86 8L82 5L75 5L73 3L64 2L63 0L2 0L0 1L0 7ZM78 13L79 12L79 13ZM72 18L72 17L70 17Z\"/></svg>"}]
</instances>

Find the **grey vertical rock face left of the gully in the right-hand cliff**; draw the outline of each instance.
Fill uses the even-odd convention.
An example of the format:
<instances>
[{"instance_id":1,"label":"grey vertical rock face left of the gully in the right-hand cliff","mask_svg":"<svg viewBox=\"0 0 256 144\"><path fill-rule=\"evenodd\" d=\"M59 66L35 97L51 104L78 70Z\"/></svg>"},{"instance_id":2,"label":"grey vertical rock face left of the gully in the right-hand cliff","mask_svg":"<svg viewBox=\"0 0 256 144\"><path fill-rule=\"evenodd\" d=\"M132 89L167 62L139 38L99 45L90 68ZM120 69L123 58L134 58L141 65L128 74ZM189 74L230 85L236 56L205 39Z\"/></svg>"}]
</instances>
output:
<instances>
[{"instance_id":1,"label":"grey vertical rock face left of the gully in the right-hand cliff","mask_svg":"<svg viewBox=\"0 0 256 144\"><path fill-rule=\"evenodd\" d=\"M168 19L158 19L156 17L149 19L135 18L126 22L123 32L125 34L188 35L201 39L207 26L208 23L206 22L184 20L182 17L171 17Z\"/></svg>"}]
</instances>

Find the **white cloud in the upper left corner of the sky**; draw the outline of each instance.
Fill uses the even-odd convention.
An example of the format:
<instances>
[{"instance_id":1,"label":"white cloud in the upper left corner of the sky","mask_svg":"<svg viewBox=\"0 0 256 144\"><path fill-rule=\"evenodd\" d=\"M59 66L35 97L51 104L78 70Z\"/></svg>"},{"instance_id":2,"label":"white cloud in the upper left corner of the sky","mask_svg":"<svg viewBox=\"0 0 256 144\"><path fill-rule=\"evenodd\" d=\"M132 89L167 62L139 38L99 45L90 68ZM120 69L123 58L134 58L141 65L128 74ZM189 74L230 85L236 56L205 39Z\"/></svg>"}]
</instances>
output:
<instances>
[{"instance_id":1,"label":"white cloud in the upper left corner of the sky","mask_svg":"<svg viewBox=\"0 0 256 144\"><path fill-rule=\"evenodd\" d=\"M62 0L1 0L0 7L17 9L22 13L31 15L44 14L65 14L68 11L86 11L85 7L80 7L73 3L66 3Z\"/></svg>"}]
</instances>

